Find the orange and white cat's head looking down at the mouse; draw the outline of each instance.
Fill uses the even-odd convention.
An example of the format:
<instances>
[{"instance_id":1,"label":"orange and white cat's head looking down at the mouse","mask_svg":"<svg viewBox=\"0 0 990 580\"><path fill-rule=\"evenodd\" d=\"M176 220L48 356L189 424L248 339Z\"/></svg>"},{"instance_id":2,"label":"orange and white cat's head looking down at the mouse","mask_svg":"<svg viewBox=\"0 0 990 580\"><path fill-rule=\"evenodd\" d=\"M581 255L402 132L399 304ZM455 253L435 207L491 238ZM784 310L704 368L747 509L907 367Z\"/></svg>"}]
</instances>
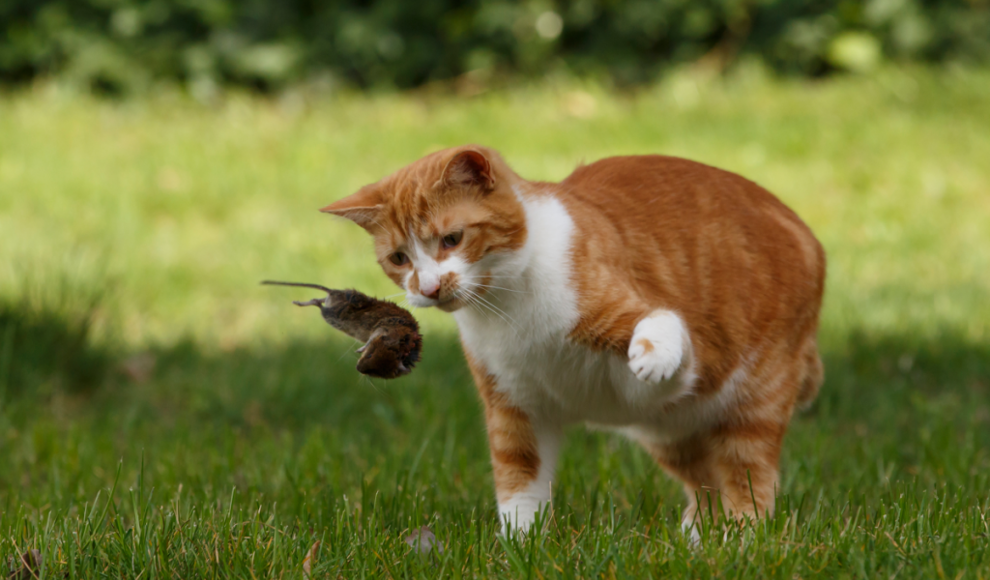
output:
<instances>
[{"instance_id":1,"label":"orange and white cat's head looking down at the mouse","mask_svg":"<svg viewBox=\"0 0 990 580\"><path fill-rule=\"evenodd\" d=\"M413 306L453 312L513 274L526 218L499 155L467 145L428 155L321 211L375 238L385 274Z\"/></svg>"}]
</instances>

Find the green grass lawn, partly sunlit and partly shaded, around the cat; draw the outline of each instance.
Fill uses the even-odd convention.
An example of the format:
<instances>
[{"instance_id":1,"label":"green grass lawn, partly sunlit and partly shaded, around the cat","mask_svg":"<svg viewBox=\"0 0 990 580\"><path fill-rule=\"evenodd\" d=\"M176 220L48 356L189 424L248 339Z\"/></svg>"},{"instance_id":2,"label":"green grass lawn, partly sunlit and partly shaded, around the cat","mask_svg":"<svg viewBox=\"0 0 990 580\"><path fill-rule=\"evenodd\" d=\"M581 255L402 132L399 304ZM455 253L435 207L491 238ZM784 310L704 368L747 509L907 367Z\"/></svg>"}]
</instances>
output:
<instances>
[{"instance_id":1,"label":"green grass lawn, partly sunlit and partly shaded, around the cat","mask_svg":"<svg viewBox=\"0 0 990 580\"><path fill-rule=\"evenodd\" d=\"M458 98L0 96L0 577L990 577L990 71L682 73ZM793 207L829 256L826 382L777 516L682 537L679 487L570 432L540 533L497 534L452 321L372 381L265 278L399 290L319 214L440 147L523 176L690 157ZM152 364L153 363L153 364ZM427 525L444 547L403 541ZM67 576L66 576L67 575Z\"/></svg>"}]
</instances>

